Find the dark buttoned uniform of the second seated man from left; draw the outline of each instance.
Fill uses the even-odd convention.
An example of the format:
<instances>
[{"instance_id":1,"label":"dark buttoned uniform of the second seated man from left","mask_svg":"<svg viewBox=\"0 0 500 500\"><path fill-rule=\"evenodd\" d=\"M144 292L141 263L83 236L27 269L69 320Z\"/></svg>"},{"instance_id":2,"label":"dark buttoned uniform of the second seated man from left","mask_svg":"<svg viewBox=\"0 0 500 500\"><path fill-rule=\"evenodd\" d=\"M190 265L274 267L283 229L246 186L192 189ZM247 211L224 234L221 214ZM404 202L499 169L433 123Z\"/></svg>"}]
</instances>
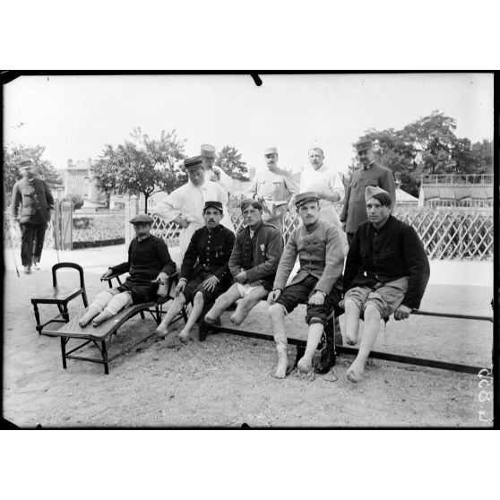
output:
<instances>
[{"instance_id":1,"label":"dark buttoned uniform of the second seated man from left","mask_svg":"<svg viewBox=\"0 0 500 500\"><path fill-rule=\"evenodd\" d=\"M205 304L208 304L228 289L232 281L228 261L234 241L234 233L224 226L194 231L180 270L180 279L187 281L183 291L186 302L201 291ZM219 283L210 292L203 289L202 283L211 276L215 276Z\"/></svg>"}]
</instances>

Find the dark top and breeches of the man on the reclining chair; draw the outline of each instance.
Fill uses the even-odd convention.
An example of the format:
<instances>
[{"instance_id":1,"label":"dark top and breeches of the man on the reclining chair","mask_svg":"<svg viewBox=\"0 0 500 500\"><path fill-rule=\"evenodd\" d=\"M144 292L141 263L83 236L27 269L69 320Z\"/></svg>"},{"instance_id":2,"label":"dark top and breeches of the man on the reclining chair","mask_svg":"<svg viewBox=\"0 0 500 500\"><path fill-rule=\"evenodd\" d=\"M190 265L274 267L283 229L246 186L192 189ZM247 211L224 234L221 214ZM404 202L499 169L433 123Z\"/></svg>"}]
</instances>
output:
<instances>
[{"instance_id":1,"label":"dark top and breeches of the man on the reclining chair","mask_svg":"<svg viewBox=\"0 0 500 500\"><path fill-rule=\"evenodd\" d=\"M170 258L168 247L160 237L150 235L139 241L136 237L128 247L128 261L109 268L112 272L128 272L120 291L130 291L134 304L150 302L156 297L157 283L151 283L159 272L168 276L176 272L176 263Z\"/></svg>"}]
</instances>

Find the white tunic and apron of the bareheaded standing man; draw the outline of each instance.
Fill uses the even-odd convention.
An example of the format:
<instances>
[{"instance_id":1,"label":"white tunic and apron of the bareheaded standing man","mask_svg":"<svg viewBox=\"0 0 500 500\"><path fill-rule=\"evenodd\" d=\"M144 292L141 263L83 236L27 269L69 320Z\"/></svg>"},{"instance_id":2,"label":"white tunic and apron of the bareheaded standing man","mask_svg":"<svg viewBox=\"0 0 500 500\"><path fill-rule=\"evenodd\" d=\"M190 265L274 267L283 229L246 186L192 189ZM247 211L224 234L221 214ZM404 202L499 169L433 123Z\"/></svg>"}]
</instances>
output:
<instances>
[{"instance_id":1,"label":"white tunic and apron of the bareheaded standing man","mask_svg":"<svg viewBox=\"0 0 500 500\"><path fill-rule=\"evenodd\" d=\"M305 168L300 176L300 193L307 193L315 191L316 193L327 192L330 194L337 193L341 197L339 202L344 198L344 183L342 182L341 175L322 165L320 168ZM339 214L335 210L335 203L329 200L320 200L320 213L319 220L323 220L327 224L335 224L341 228L341 220Z\"/></svg>"}]
</instances>

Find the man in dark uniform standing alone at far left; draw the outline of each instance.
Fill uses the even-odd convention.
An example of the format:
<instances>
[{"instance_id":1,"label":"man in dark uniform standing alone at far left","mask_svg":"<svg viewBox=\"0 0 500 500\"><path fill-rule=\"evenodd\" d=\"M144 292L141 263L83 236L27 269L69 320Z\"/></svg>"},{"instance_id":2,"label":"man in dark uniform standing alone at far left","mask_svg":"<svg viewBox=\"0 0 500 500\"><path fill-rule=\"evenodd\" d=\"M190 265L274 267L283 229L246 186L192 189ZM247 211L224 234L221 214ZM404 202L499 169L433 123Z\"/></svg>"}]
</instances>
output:
<instances>
[{"instance_id":1,"label":"man in dark uniform standing alone at far left","mask_svg":"<svg viewBox=\"0 0 500 500\"><path fill-rule=\"evenodd\" d=\"M31 265L39 269L45 231L54 211L54 198L47 183L35 177L31 159L21 163L22 179L13 186L11 215L21 227L21 260L26 274ZM21 211L20 211L21 207Z\"/></svg>"}]
</instances>

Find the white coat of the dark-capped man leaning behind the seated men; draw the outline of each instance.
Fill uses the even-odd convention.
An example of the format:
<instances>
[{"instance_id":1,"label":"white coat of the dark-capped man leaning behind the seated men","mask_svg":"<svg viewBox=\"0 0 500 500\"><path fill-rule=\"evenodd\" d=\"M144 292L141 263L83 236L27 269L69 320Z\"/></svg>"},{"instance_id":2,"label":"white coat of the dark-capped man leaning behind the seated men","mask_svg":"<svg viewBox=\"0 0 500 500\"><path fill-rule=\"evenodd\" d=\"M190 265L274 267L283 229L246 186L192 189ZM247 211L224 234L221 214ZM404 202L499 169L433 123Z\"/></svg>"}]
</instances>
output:
<instances>
[{"instance_id":1,"label":"white coat of the dark-capped man leaning behind the seated men","mask_svg":"<svg viewBox=\"0 0 500 500\"><path fill-rule=\"evenodd\" d=\"M181 258L184 257L194 231L205 225L203 219L205 202L214 201L222 203L224 217L220 223L234 232L234 226L226 207L228 194L224 193L220 185L208 180L205 180L203 185L194 185L190 181L181 185L163 198L155 208L155 213L168 222L176 219L179 215L189 222L189 226L183 229L180 236Z\"/></svg>"}]
</instances>

